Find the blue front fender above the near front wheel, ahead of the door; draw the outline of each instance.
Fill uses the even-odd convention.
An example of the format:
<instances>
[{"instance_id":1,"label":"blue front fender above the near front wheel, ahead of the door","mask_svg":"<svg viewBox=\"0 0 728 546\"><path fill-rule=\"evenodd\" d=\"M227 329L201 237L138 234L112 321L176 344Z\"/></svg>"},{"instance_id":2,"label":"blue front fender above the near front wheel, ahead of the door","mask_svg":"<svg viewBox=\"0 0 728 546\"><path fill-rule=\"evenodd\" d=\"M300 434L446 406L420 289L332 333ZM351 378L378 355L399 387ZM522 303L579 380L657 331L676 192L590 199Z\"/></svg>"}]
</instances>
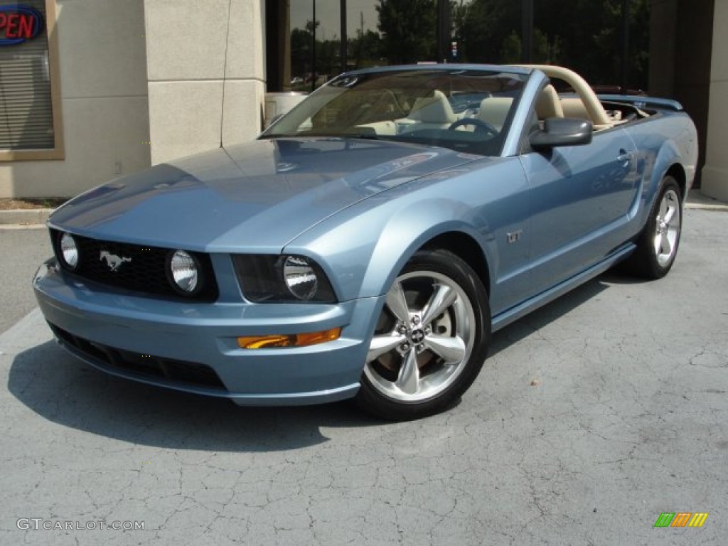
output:
<instances>
[{"instance_id":1,"label":"blue front fender above the near front wheel, ahead of the door","mask_svg":"<svg viewBox=\"0 0 728 546\"><path fill-rule=\"evenodd\" d=\"M317 259L345 301L381 296L427 242L462 234L498 282L521 259L505 266L496 241L528 222L527 186L518 158L483 158L364 199L301 234L285 253ZM526 248L516 247L512 253Z\"/></svg>"}]
</instances>

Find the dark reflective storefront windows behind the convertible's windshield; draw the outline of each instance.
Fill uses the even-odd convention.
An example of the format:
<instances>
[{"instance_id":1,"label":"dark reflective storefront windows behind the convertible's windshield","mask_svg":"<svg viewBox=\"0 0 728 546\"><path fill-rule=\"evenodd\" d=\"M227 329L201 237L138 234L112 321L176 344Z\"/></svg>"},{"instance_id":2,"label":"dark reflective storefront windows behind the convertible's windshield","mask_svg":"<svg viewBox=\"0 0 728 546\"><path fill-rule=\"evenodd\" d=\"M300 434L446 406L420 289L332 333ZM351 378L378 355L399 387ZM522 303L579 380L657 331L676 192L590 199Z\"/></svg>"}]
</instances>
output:
<instances>
[{"instance_id":1,"label":"dark reflective storefront windows behind the convertible's windshield","mask_svg":"<svg viewBox=\"0 0 728 546\"><path fill-rule=\"evenodd\" d=\"M443 59L560 64L616 90L648 84L649 0L267 0L266 13L279 21L268 24L271 91Z\"/></svg>"}]
</instances>

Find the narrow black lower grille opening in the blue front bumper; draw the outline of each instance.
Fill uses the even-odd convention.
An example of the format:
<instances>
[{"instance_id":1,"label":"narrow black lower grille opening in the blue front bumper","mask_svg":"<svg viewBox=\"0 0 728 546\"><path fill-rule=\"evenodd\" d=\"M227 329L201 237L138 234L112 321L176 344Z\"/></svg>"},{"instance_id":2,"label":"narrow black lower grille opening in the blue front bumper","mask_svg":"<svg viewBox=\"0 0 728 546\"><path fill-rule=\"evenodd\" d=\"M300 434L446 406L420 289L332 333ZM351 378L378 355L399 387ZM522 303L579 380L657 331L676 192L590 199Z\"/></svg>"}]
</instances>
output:
<instances>
[{"instance_id":1,"label":"narrow black lower grille opening in the blue front bumper","mask_svg":"<svg viewBox=\"0 0 728 546\"><path fill-rule=\"evenodd\" d=\"M74 336L55 324L48 325L61 343L73 347L105 368L124 371L141 379L165 379L175 383L226 390L218 374L205 364L124 351Z\"/></svg>"}]
</instances>

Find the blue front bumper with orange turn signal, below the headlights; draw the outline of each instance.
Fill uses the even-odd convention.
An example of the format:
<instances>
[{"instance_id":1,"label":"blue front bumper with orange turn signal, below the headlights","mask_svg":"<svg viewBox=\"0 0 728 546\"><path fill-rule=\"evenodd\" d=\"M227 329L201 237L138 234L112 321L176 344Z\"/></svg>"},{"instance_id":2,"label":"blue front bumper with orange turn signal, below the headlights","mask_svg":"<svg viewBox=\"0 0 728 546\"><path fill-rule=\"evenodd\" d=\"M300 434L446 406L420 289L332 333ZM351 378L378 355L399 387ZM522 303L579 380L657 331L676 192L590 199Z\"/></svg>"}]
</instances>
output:
<instances>
[{"instance_id":1,"label":"blue front bumper with orange turn signal, below the headlights","mask_svg":"<svg viewBox=\"0 0 728 546\"><path fill-rule=\"evenodd\" d=\"M66 349L103 371L240 405L302 405L353 397L383 297L340 304L213 304L132 296L63 272L33 279L41 312ZM309 347L240 349L238 336L341 327Z\"/></svg>"}]
</instances>

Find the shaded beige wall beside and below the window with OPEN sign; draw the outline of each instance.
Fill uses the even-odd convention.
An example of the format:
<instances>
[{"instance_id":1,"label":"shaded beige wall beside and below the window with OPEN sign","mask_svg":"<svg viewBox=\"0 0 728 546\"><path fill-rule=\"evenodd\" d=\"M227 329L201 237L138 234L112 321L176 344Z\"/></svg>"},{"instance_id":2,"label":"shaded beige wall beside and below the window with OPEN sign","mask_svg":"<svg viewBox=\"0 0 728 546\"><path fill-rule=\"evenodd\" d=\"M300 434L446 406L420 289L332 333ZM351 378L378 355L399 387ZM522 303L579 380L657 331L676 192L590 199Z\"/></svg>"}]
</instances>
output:
<instances>
[{"instance_id":1,"label":"shaded beige wall beside and below the window with OPEN sign","mask_svg":"<svg viewBox=\"0 0 728 546\"><path fill-rule=\"evenodd\" d=\"M71 197L148 167L143 0L58 0L66 159L0 162L0 197Z\"/></svg>"}]
</instances>

